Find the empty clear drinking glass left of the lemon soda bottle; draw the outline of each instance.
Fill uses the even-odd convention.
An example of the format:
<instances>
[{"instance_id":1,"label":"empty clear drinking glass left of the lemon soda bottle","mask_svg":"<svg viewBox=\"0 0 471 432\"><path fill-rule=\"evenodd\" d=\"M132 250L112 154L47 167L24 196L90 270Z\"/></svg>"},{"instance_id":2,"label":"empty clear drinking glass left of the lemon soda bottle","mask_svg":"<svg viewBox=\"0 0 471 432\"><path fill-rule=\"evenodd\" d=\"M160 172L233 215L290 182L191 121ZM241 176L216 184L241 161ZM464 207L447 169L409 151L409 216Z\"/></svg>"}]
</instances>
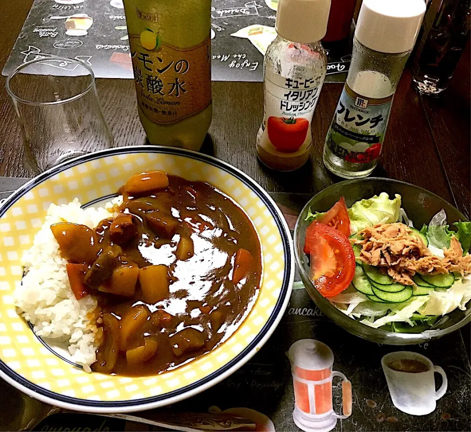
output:
<instances>
[{"instance_id":1,"label":"empty clear drinking glass left of the lemon soda bottle","mask_svg":"<svg viewBox=\"0 0 471 432\"><path fill-rule=\"evenodd\" d=\"M26 162L36 173L113 147L85 63L56 56L28 61L8 76L6 90L20 120Z\"/></svg>"}]
</instances>

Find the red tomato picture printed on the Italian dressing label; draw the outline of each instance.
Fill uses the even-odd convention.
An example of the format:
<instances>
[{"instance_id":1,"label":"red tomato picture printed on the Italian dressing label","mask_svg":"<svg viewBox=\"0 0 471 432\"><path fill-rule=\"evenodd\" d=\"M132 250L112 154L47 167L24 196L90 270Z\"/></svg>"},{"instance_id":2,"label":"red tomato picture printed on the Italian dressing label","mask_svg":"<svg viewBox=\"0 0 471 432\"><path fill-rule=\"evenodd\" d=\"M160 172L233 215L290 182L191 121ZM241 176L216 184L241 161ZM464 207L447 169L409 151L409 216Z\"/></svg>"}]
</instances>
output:
<instances>
[{"instance_id":1,"label":"red tomato picture printed on the Italian dressing label","mask_svg":"<svg viewBox=\"0 0 471 432\"><path fill-rule=\"evenodd\" d=\"M281 152L295 152L308 135L309 121L305 118L268 117L268 138Z\"/></svg>"}]
</instances>

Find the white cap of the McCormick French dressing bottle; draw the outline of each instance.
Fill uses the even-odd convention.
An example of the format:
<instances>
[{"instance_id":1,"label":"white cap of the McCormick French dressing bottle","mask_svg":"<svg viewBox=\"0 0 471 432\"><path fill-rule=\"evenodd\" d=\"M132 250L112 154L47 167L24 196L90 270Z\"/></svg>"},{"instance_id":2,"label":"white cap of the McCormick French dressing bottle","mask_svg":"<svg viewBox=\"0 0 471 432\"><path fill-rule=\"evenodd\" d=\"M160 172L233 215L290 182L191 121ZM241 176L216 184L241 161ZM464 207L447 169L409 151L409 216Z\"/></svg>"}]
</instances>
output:
<instances>
[{"instance_id":1,"label":"white cap of the McCormick French dressing bottle","mask_svg":"<svg viewBox=\"0 0 471 432\"><path fill-rule=\"evenodd\" d=\"M355 37L370 50L412 50L425 13L424 0L363 0Z\"/></svg>"}]
</instances>

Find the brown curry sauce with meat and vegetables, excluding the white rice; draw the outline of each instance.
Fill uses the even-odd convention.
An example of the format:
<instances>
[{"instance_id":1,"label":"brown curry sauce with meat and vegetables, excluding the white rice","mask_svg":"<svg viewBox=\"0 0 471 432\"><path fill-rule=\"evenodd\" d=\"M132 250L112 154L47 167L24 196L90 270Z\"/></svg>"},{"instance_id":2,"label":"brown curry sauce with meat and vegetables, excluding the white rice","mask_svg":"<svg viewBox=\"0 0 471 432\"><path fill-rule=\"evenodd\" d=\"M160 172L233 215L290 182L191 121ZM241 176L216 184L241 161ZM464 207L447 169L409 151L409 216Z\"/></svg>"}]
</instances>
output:
<instances>
[{"instance_id":1,"label":"brown curry sauce with meat and vegetables, excluding the white rice","mask_svg":"<svg viewBox=\"0 0 471 432\"><path fill-rule=\"evenodd\" d=\"M92 369L151 375L234 333L258 296L261 245L243 210L207 183L153 171L120 192L118 216L95 229L51 229L75 296L98 299Z\"/></svg>"}]
</instances>

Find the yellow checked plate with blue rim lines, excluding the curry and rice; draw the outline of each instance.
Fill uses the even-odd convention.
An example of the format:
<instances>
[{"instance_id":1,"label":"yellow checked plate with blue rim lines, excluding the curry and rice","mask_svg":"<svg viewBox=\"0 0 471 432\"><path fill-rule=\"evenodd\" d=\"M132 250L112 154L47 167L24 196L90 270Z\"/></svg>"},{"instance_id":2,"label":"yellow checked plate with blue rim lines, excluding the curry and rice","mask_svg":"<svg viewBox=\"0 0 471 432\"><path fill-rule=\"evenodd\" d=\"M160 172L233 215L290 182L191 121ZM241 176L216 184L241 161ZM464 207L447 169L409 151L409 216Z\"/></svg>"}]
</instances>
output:
<instances>
[{"instance_id":1,"label":"yellow checked plate with blue rim lines, excluding the curry and rice","mask_svg":"<svg viewBox=\"0 0 471 432\"><path fill-rule=\"evenodd\" d=\"M111 199L130 175L161 169L206 181L231 196L254 222L263 279L249 316L223 344L171 372L142 378L87 374L55 353L18 316L12 292L21 257L51 203L84 206ZM86 204L85 204L86 203ZM105 150L65 162L26 183L0 209L0 376L29 396L88 412L130 412L177 402L228 377L266 342L288 304L294 277L288 226L268 194L231 165L199 153L156 146Z\"/></svg>"}]
</instances>

